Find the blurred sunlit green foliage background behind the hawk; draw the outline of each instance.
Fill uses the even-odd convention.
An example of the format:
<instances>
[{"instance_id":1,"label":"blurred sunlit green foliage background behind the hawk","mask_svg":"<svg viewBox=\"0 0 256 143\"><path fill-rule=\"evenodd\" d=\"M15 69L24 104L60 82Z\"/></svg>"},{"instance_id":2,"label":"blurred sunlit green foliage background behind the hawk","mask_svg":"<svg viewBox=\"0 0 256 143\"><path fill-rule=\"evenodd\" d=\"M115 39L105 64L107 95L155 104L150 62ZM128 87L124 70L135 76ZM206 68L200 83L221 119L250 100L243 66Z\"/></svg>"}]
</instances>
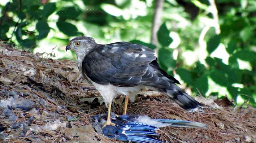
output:
<instances>
[{"instance_id":1,"label":"blurred sunlit green foliage background behind the hawk","mask_svg":"<svg viewBox=\"0 0 256 143\"><path fill-rule=\"evenodd\" d=\"M74 59L65 45L80 35L141 43L192 95L256 107L256 1L211 2L165 0L152 45L154 0L1 0L0 40L54 59Z\"/></svg>"}]
</instances>

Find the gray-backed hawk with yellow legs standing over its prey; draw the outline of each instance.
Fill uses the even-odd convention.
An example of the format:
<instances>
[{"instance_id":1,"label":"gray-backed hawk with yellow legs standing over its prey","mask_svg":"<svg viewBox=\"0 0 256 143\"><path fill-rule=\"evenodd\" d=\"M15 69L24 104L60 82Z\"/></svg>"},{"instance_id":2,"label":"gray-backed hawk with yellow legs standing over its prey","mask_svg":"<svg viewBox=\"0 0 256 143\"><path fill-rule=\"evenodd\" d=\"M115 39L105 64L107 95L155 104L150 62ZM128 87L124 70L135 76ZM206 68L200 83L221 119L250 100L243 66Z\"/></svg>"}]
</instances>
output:
<instances>
[{"instance_id":1,"label":"gray-backed hawk with yellow legs standing over its prey","mask_svg":"<svg viewBox=\"0 0 256 143\"><path fill-rule=\"evenodd\" d=\"M146 46L129 42L102 45L91 37L80 36L72 39L66 50L76 53L79 71L102 95L108 107L105 126L115 125L110 113L116 95L126 96L126 114L129 99L134 102L143 89L160 91L189 112L203 106L177 86L179 81L159 67L154 50Z\"/></svg>"}]
</instances>

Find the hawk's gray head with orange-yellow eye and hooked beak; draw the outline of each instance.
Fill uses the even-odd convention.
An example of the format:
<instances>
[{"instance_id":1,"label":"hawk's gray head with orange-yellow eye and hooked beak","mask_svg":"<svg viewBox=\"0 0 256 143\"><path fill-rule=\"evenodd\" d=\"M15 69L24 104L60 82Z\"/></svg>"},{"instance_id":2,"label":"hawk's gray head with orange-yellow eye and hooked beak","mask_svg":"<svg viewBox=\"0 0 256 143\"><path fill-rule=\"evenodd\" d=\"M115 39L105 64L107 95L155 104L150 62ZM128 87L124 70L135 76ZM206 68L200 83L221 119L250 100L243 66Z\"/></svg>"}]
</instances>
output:
<instances>
[{"instance_id":1,"label":"hawk's gray head with orange-yellow eye and hooked beak","mask_svg":"<svg viewBox=\"0 0 256 143\"><path fill-rule=\"evenodd\" d=\"M90 49L94 48L97 44L95 40L91 37L81 36L76 37L69 41L66 46L67 50L73 50L76 54L77 53L87 53Z\"/></svg>"}]
</instances>

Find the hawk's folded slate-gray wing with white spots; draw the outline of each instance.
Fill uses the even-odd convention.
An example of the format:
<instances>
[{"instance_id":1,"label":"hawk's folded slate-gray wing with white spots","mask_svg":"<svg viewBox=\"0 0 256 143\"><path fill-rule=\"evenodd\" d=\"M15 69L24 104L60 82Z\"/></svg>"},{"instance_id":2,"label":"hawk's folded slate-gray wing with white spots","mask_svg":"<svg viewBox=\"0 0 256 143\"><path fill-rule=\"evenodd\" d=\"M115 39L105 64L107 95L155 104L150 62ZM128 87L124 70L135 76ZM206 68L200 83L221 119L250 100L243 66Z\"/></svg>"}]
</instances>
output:
<instances>
[{"instance_id":1,"label":"hawk's folded slate-gray wing with white spots","mask_svg":"<svg viewBox=\"0 0 256 143\"><path fill-rule=\"evenodd\" d=\"M151 62L153 64L150 64ZM171 76L170 79L159 79L168 74L158 67L154 50L127 42L99 45L85 57L82 68L83 73L98 84L110 83L115 86L145 84L165 88L169 86L171 80L172 83L178 83Z\"/></svg>"}]
</instances>

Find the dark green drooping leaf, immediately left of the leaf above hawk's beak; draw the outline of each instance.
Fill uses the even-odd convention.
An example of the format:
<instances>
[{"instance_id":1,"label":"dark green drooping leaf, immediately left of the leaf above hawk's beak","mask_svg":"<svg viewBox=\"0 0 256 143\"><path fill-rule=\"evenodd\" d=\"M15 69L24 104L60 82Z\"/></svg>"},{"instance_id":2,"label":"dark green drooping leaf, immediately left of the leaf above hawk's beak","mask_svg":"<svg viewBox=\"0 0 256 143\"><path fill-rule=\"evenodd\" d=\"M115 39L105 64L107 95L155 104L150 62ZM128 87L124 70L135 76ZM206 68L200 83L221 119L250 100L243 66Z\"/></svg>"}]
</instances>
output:
<instances>
[{"instance_id":1,"label":"dark green drooping leaf, immediately left of the leaf above hawk's beak","mask_svg":"<svg viewBox=\"0 0 256 143\"><path fill-rule=\"evenodd\" d=\"M39 32L39 35L37 35L38 40L46 38L50 31L50 27L48 26L48 23L46 21L38 21L35 25L35 28Z\"/></svg>"}]
</instances>

